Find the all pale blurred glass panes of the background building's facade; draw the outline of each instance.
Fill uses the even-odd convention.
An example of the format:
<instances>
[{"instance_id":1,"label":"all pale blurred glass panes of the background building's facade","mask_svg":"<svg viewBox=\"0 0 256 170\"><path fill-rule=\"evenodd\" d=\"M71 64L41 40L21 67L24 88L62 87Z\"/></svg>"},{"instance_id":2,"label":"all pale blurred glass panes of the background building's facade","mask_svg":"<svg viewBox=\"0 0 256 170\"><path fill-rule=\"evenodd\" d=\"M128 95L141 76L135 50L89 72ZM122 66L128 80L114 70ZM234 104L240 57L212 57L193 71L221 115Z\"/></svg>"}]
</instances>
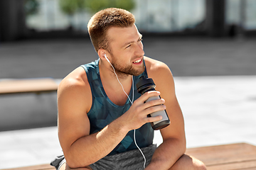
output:
<instances>
[{"instance_id":1,"label":"all pale blurred glass panes of the background building's facade","mask_svg":"<svg viewBox=\"0 0 256 170\"><path fill-rule=\"evenodd\" d=\"M92 13L76 12L68 16L60 10L60 0L37 0L38 12L26 17L28 28L38 31L62 30L72 26L87 31ZM137 19L137 27L144 32L170 33L195 28L206 18L206 0L134 0L131 11ZM243 3L243 6L241 6ZM242 10L244 16L241 16ZM242 17L242 18L241 18ZM256 29L256 0L226 0L226 24L245 30ZM241 22L242 21L242 22Z\"/></svg>"}]
</instances>

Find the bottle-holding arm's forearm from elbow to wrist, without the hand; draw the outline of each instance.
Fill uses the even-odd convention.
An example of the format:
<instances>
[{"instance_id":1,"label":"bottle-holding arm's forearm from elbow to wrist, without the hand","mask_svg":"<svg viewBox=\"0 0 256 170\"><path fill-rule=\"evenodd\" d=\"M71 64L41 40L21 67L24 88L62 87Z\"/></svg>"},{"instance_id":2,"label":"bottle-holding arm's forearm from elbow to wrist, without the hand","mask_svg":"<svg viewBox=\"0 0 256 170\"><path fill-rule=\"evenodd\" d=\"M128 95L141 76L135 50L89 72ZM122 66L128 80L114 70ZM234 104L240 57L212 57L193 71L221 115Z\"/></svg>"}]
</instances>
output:
<instances>
[{"instance_id":1,"label":"bottle-holding arm's forearm from elbow to wrist, without the hand","mask_svg":"<svg viewBox=\"0 0 256 170\"><path fill-rule=\"evenodd\" d=\"M127 132L119 120L114 120L100 132L81 137L64 152L67 164L71 168L78 168L97 162L109 154Z\"/></svg>"}]
</instances>

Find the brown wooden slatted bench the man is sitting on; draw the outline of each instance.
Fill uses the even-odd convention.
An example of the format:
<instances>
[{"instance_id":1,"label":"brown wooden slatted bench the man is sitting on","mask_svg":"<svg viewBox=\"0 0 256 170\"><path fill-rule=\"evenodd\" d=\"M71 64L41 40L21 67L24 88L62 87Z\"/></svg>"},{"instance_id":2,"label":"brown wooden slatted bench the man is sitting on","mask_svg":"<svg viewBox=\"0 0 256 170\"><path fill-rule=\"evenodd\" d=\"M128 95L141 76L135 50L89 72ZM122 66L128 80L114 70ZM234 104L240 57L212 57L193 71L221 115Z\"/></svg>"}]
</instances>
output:
<instances>
[{"instance_id":1,"label":"brown wooden slatted bench the man is sitting on","mask_svg":"<svg viewBox=\"0 0 256 170\"><path fill-rule=\"evenodd\" d=\"M186 154L200 159L208 170L255 170L256 147L246 143L189 148ZM49 164L28 166L15 170L55 170ZM14 169L8 169L14 170Z\"/></svg>"}]
</instances>

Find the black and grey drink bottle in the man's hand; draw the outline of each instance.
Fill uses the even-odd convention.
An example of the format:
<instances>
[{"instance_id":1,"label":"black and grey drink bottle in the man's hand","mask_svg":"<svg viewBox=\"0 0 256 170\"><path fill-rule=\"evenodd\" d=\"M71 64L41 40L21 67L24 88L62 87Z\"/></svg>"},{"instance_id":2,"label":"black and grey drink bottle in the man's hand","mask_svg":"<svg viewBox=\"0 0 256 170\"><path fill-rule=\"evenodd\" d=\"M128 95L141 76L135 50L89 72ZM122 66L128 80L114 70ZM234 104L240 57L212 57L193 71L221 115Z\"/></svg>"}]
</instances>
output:
<instances>
[{"instance_id":1,"label":"black and grey drink bottle in the man's hand","mask_svg":"<svg viewBox=\"0 0 256 170\"><path fill-rule=\"evenodd\" d=\"M136 84L137 91L139 92L139 94L144 94L144 93L146 93L146 91L155 91L154 88L156 87L156 84L154 84L153 79L150 79L150 78L146 79L146 77L144 77L144 76L139 77L139 79L140 79L139 82ZM153 101L153 100L156 100L159 98L160 98L160 96L153 96L153 97L148 98L145 102ZM165 128L166 126L170 125L170 120L166 113L166 110L156 111L154 113L149 114L148 117L155 117L157 115L161 115L162 119L151 123L151 127L154 130L159 130L161 128Z\"/></svg>"}]
</instances>

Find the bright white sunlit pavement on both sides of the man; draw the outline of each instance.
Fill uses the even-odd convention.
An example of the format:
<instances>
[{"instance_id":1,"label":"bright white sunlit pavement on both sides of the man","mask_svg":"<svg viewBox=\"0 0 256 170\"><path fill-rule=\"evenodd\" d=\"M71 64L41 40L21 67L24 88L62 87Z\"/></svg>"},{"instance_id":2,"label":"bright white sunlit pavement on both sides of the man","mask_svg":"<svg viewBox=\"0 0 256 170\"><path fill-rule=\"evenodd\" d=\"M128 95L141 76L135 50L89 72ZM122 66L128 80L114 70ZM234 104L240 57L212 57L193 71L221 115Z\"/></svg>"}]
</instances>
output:
<instances>
[{"instance_id":1,"label":"bright white sunlit pavement on both sides of the man","mask_svg":"<svg viewBox=\"0 0 256 170\"><path fill-rule=\"evenodd\" d=\"M256 76L174 77L187 147L256 145ZM48 164L62 154L56 127L0 132L0 169ZM154 142L161 143L159 131Z\"/></svg>"}]
</instances>

